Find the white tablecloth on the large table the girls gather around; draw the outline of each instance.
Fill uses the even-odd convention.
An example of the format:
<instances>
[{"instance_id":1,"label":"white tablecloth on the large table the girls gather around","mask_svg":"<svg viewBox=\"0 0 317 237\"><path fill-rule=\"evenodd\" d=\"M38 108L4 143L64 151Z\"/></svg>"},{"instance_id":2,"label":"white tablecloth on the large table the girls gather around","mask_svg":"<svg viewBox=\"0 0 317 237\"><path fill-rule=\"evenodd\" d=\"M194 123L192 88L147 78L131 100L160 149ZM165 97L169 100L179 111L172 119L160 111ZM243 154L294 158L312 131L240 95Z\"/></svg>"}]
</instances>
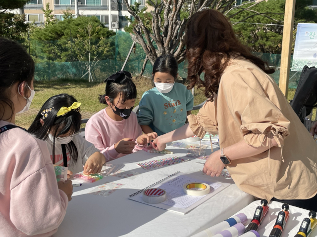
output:
<instances>
[{"instance_id":1,"label":"white tablecloth on the large table the girls gather around","mask_svg":"<svg viewBox=\"0 0 317 237\"><path fill-rule=\"evenodd\" d=\"M254 201L254 197L239 190L232 179L226 180L222 177L213 179L229 182L231 185L186 215L128 199L129 195L178 170L197 175L197 179L199 176L202 177L203 165L196 163L196 161L202 162L202 160L194 158L191 158L190 161L152 170L144 170L136 165L139 162L155 160L156 157L183 157L187 151L175 147L167 147L167 149L173 151L174 154L150 154L139 151L109 162L124 164L123 170L140 173L133 180L107 176L95 183L84 183L81 187L75 187L66 216L53 237L190 237L229 218ZM210 147L206 154L211 154ZM106 182L125 185L108 197L88 194Z\"/></svg>"}]
</instances>

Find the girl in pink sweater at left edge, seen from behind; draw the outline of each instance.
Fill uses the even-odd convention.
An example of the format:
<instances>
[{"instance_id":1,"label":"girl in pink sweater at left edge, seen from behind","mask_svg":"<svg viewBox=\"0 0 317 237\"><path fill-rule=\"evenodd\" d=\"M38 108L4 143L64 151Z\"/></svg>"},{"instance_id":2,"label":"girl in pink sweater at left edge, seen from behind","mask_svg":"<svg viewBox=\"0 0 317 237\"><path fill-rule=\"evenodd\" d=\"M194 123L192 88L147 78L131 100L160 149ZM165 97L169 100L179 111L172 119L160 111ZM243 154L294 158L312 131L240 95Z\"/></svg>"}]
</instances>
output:
<instances>
[{"instance_id":1,"label":"girl in pink sweater at left edge, seen from behind","mask_svg":"<svg viewBox=\"0 0 317 237\"><path fill-rule=\"evenodd\" d=\"M49 237L64 219L71 181L56 182L46 142L14 124L34 97L34 62L0 38L0 236Z\"/></svg>"}]
</instances>

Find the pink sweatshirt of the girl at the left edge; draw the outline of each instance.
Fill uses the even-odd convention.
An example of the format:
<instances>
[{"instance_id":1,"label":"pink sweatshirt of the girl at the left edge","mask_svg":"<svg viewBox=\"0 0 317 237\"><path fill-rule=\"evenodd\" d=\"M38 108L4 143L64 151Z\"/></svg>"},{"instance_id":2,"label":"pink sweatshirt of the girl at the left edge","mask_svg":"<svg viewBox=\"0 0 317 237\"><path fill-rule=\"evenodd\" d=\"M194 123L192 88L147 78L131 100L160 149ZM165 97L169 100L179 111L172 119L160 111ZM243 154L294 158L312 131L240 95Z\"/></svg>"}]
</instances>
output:
<instances>
[{"instance_id":1,"label":"pink sweatshirt of the girl at the left edge","mask_svg":"<svg viewBox=\"0 0 317 237\"><path fill-rule=\"evenodd\" d=\"M46 142L13 128L0 134L0 154L0 237L52 236L68 197L58 190Z\"/></svg>"}]
</instances>

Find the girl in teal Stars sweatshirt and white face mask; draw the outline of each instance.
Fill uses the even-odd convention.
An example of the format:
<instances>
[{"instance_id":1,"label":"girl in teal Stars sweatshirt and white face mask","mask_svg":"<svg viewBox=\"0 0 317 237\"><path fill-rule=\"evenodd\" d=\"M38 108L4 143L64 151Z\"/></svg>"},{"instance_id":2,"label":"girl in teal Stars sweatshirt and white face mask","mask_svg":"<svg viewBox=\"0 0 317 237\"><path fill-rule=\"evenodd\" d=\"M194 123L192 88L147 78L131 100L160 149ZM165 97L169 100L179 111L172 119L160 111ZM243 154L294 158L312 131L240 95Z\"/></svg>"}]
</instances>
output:
<instances>
[{"instance_id":1,"label":"girl in teal Stars sweatshirt and white face mask","mask_svg":"<svg viewBox=\"0 0 317 237\"><path fill-rule=\"evenodd\" d=\"M178 65L174 57L163 55L153 65L155 87L144 92L139 103L138 122L144 133L163 135L187 122L194 98L185 85L175 82Z\"/></svg>"}]
</instances>

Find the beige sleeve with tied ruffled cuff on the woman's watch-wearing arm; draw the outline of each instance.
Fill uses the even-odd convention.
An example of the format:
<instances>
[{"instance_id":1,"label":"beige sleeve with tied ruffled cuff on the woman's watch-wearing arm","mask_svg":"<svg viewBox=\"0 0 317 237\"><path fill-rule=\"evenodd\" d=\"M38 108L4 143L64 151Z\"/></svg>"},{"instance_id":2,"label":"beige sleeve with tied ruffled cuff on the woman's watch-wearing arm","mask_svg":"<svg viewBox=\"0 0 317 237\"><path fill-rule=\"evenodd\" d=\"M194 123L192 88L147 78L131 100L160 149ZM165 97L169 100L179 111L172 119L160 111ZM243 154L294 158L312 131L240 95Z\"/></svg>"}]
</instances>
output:
<instances>
[{"instance_id":1,"label":"beige sleeve with tied ruffled cuff on the woman's watch-wearing arm","mask_svg":"<svg viewBox=\"0 0 317 237\"><path fill-rule=\"evenodd\" d=\"M265 78L257 78L250 70L241 68L241 72L235 70L222 76L219 91L224 93L231 115L240 122L247 144L268 146L269 139L274 138L282 147L289 135L290 121L281 113L279 105L269 99L277 97L275 90L270 90L268 95L260 81Z\"/></svg>"}]
</instances>

